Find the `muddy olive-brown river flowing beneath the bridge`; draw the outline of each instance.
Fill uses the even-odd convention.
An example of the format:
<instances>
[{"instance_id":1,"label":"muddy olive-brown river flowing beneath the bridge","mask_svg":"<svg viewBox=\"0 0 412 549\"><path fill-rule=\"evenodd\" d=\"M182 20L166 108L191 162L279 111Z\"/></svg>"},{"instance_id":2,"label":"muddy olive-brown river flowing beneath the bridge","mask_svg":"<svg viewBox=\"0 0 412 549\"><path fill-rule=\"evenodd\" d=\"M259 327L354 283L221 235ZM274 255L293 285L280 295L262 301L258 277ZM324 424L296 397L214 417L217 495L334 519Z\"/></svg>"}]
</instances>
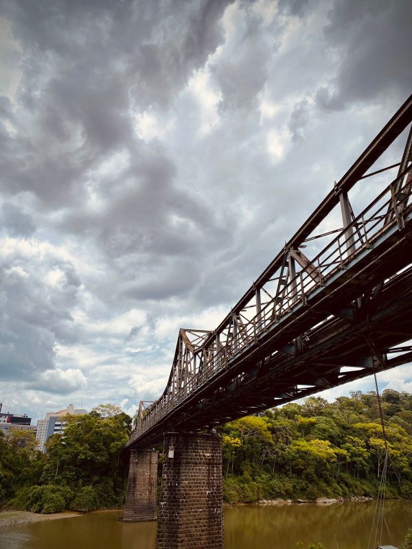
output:
<instances>
[{"instance_id":1,"label":"muddy olive-brown river flowing beneath the bridge","mask_svg":"<svg viewBox=\"0 0 412 549\"><path fill-rule=\"evenodd\" d=\"M236 506L225 509L225 549L295 549L321 541L326 549L367 549L376 502L319 506ZM35 522L0 530L1 549L155 549L156 522L117 522L121 511ZM412 504L385 502L382 544L399 546L412 526Z\"/></svg>"}]
</instances>

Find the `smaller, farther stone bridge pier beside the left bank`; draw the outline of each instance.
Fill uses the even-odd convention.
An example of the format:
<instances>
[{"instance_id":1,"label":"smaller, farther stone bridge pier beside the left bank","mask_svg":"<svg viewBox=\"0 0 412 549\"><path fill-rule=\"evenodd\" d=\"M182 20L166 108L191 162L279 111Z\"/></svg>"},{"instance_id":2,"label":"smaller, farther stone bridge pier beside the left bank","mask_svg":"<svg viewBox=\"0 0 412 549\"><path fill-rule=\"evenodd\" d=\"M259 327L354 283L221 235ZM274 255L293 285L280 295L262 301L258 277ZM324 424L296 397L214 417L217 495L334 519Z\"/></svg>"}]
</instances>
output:
<instances>
[{"instance_id":1,"label":"smaller, farther stone bridge pier beside the left bank","mask_svg":"<svg viewBox=\"0 0 412 549\"><path fill-rule=\"evenodd\" d=\"M156 520L156 450L131 450L122 522Z\"/></svg>"}]
</instances>

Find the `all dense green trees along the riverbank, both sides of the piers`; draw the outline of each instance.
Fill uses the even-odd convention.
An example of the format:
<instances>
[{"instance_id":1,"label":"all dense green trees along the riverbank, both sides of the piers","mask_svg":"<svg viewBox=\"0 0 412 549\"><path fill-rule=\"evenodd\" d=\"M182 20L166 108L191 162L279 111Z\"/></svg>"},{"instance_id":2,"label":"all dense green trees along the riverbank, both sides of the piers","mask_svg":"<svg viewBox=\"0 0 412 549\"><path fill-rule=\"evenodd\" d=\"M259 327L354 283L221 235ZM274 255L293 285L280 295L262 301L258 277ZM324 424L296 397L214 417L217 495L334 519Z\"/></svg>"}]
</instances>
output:
<instances>
[{"instance_id":1,"label":"all dense green trees along the riverbank, both sides of the piers","mask_svg":"<svg viewBox=\"0 0 412 549\"><path fill-rule=\"evenodd\" d=\"M412 493L412 395L385 390L382 412L386 494L402 497ZM31 433L12 430L7 439L0 433L1 504L43 513L122 506L131 423L116 406L98 406L68 417L45 454ZM385 442L375 393L352 392L332 404L309 397L232 421L220 432L228 503L378 495Z\"/></svg>"}]
</instances>

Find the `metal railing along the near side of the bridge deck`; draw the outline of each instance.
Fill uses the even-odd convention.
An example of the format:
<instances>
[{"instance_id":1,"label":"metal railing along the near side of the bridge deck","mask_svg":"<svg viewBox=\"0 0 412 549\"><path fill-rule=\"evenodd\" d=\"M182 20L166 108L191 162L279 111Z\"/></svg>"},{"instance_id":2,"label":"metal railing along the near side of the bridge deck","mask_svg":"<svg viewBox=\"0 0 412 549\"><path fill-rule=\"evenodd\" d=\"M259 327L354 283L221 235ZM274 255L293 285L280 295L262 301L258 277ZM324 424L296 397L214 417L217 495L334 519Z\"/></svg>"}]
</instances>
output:
<instances>
[{"instance_id":1,"label":"metal railing along the near side of the bridge deck","mask_svg":"<svg viewBox=\"0 0 412 549\"><path fill-rule=\"evenodd\" d=\"M177 388L175 385L173 390L167 388L161 399L146 409L146 415L137 421L130 442L210 382L214 375L229 369L244 351L258 343L262 334L276 325L287 323L290 316L306 305L307 299L321 291L332 279L341 276L352 261L368 253L381 237L393 229L403 229L406 216L411 215L411 169L412 165L394 179L320 253L310 261L306 258L306 266L294 277L286 278L283 285L279 284L275 296L265 290L271 299L259 307L252 318L243 317L238 329L234 329L235 324L228 325L224 342L216 338L214 347L208 348L207 352L203 352L205 349L202 348L196 349L200 362L198 370L192 371L190 376L186 375L185 382L179 379ZM290 250L285 250L285 254L290 254Z\"/></svg>"}]
</instances>

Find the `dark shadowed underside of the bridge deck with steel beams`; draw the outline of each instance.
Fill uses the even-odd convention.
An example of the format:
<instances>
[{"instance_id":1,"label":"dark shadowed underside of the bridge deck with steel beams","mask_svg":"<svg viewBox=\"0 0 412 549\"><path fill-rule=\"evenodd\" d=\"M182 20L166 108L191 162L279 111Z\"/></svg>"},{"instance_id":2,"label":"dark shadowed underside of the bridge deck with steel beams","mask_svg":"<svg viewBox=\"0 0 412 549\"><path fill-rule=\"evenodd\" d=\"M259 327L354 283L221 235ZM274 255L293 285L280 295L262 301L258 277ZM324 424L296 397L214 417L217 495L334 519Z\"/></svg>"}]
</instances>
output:
<instances>
[{"instance_id":1,"label":"dark shadowed underside of the bridge deck with steel beams","mask_svg":"<svg viewBox=\"0 0 412 549\"><path fill-rule=\"evenodd\" d=\"M412 257L411 240L404 242L404 257ZM371 266L376 267L372 262ZM377 274L377 273L376 273ZM374 280L370 273L368 280ZM341 316L321 328L305 329L305 318L296 318L305 336L288 343L289 334L267 334L236 369L222 371L145 434L140 445L162 441L168 430L200 431L247 414L273 408L295 399L345 384L372 373L412 362L412 267L391 279L379 298L354 309L336 301ZM369 287L373 287L373 284ZM348 291L348 293L350 293ZM375 301L375 303L374 303ZM323 309L307 305L313 320ZM328 312L330 309L328 309ZM279 349L282 349L279 351Z\"/></svg>"}]
</instances>

